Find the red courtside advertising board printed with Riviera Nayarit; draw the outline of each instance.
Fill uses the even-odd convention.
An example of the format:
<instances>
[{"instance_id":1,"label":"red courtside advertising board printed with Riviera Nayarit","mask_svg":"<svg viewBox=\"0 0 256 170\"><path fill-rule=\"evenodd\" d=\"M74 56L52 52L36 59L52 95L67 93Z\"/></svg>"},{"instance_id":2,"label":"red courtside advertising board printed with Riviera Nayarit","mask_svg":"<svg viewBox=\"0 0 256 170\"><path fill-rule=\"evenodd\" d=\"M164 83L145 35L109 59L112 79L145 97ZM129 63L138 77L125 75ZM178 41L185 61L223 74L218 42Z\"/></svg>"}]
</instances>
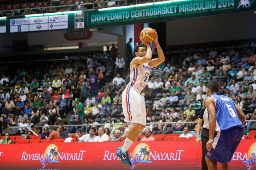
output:
<instances>
[{"instance_id":1,"label":"red courtside advertising board printed with Riviera Nayarit","mask_svg":"<svg viewBox=\"0 0 256 170\"><path fill-rule=\"evenodd\" d=\"M134 142L129 152L133 167L116 156L122 142L38 143L1 145L1 170L70 169L201 169L202 147L196 141ZM256 140L242 140L229 169L255 168ZM219 164L218 164L218 168Z\"/></svg>"}]
</instances>

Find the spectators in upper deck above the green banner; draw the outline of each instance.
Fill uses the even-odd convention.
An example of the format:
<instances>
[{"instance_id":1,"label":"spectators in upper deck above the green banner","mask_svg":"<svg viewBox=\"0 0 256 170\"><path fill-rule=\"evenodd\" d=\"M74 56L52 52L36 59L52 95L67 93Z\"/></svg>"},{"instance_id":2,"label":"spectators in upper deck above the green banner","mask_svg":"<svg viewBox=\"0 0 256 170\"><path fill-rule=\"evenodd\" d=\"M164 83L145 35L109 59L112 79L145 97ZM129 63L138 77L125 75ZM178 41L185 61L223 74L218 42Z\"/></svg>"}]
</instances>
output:
<instances>
[{"instance_id":1,"label":"spectators in upper deck above the green banner","mask_svg":"<svg viewBox=\"0 0 256 170\"><path fill-rule=\"evenodd\" d=\"M28 14L44 14L52 12L74 11L74 10L89 10L99 8L110 8L114 6L126 6L133 4L143 4L155 2L155 0L50 0L48 2L37 3L19 3L20 1L8 1L0 0L0 11L11 10L10 12L4 12L3 16L19 16ZM22 2L22 1L21 1ZM60 6L60 7L59 7ZM28 8L28 9L26 9ZM31 9L36 8L36 9Z\"/></svg>"}]
</instances>

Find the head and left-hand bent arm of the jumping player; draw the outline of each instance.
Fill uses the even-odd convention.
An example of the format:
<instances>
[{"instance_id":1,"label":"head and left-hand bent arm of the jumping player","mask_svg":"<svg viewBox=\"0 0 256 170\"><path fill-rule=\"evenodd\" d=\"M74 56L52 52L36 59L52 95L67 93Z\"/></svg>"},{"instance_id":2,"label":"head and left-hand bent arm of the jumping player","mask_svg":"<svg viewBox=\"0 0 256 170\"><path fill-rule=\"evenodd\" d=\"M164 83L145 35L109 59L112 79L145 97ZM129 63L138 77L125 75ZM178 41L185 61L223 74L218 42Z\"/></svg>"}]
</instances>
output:
<instances>
[{"instance_id":1,"label":"head and left-hand bent arm of the jumping player","mask_svg":"<svg viewBox=\"0 0 256 170\"><path fill-rule=\"evenodd\" d=\"M152 58L152 51L149 43L144 41L142 37L140 37L140 41L146 46L146 48L143 45L138 47L138 49L136 49L137 46L134 48L134 54L136 57L131 61L132 68L137 68L139 64L149 63Z\"/></svg>"}]
</instances>

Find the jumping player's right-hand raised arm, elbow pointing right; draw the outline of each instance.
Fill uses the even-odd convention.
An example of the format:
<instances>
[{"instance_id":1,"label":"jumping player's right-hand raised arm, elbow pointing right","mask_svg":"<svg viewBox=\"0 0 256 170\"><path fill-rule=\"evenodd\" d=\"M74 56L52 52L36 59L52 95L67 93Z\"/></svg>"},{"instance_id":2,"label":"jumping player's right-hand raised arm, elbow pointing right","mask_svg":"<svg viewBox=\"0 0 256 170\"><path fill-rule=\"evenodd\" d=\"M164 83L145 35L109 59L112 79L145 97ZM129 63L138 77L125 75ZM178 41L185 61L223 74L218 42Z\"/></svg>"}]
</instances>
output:
<instances>
[{"instance_id":1,"label":"jumping player's right-hand raised arm, elbow pointing right","mask_svg":"<svg viewBox=\"0 0 256 170\"><path fill-rule=\"evenodd\" d=\"M155 66L158 66L159 64L163 63L165 61L165 57L164 57L164 52L160 47L160 44L158 42L158 35L156 33L156 30L154 29L155 34L156 34L156 38L154 39L154 42L156 43L156 49L157 49L157 54L158 54L158 58L157 59L152 59L150 61L150 63L148 63L148 66L150 68L154 68Z\"/></svg>"}]
</instances>

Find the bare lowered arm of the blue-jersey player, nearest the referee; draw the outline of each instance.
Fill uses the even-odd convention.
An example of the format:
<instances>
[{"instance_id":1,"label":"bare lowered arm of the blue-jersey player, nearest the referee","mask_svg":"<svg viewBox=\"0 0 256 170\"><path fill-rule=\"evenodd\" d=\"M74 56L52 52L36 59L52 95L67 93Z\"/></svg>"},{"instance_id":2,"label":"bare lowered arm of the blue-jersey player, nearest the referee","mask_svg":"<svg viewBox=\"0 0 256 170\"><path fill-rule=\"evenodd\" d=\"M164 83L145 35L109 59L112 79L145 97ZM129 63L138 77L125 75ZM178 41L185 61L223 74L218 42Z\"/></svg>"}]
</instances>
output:
<instances>
[{"instance_id":1,"label":"bare lowered arm of the blue-jersey player, nearest the referee","mask_svg":"<svg viewBox=\"0 0 256 170\"><path fill-rule=\"evenodd\" d=\"M209 141L206 143L206 149L211 150L214 132L216 127L216 111L215 111L215 101L214 98L208 97L205 100L205 106L209 113Z\"/></svg>"}]
</instances>

